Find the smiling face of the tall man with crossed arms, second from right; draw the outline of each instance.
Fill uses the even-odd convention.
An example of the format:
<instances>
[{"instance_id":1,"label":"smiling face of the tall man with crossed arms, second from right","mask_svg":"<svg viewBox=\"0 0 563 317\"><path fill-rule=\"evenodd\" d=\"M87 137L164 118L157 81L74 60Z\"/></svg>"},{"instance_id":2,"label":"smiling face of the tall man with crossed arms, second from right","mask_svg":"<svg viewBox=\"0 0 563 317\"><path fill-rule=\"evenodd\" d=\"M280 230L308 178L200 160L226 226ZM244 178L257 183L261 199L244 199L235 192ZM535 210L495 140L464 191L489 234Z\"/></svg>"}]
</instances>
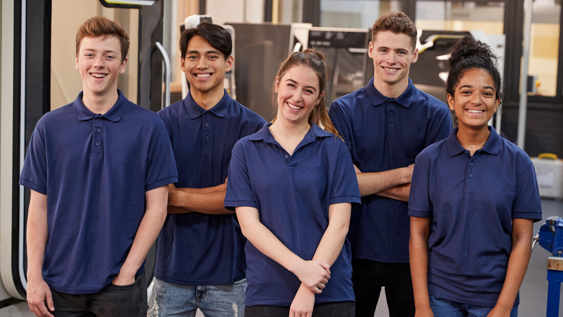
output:
<instances>
[{"instance_id":1,"label":"smiling face of the tall man with crossed arms, second from right","mask_svg":"<svg viewBox=\"0 0 563 317\"><path fill-rule=\"evenodd\" d=\"M400 87L402 93L409 83L410 64L417 61L418 50L412 47L409 35L381 31L369 42L368 55L373 59L374 84ZM388 96L397 97L397 96Z\"/></svg>"}]
</instances>

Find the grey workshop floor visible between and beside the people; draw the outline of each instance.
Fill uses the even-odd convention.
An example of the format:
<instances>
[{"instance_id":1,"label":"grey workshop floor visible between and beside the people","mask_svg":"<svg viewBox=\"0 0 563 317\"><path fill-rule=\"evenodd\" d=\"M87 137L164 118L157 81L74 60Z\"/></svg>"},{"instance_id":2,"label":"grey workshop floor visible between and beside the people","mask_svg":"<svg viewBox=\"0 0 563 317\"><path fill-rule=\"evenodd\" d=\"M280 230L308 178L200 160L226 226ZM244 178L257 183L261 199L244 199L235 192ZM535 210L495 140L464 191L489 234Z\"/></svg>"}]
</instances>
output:
<instances>
[{"instance_id":1,"label":"grey workshop floor visible between and beside the people","mask_svg":"<svg viewBox=\"0 0 563 317\"><path fill-rule=\"evenodd\" d=\"M563 202L561 200L542 199L543 220L534 224L534 232L538 232L539 227L550 216L563 217ZM536 317L546 315L547 303L547 258L549 252L536 245L531 254L530 264L522 287L520 287L520 317ZM563 296L561 296L563 303ZM385 302L385 291L381 292L376 310L376 317L388 316L387 304ZM559 307L559 315L563 316L563 305ZM4 317L27 317L33 316L28 309L26 302L12 305L0 309L0 316ZM198 311L196 317L203 317Z\"/></svg>"}]
</instances>

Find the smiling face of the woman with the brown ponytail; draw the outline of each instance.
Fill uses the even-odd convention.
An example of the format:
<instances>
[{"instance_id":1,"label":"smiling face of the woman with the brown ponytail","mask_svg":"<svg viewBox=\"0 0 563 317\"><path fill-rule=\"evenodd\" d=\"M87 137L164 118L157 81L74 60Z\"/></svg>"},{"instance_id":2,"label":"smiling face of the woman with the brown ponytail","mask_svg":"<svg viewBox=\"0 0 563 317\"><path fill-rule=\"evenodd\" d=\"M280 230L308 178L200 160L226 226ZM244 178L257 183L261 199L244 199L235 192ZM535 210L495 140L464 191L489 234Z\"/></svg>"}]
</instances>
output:
<instances>
[{"instance_id":1,"label":"smiling face of the woman with the brown ponytail","mask_svg":"<svg viewBox=\"0 0 563 317\"><path fill-rule=\"evenodd\" d=\"M295 65L276 81L278 117L295 124L308 124L309 114L319 104L324 92L319 91L319 78L305 65Z\"/></svg>"}]
</instances>

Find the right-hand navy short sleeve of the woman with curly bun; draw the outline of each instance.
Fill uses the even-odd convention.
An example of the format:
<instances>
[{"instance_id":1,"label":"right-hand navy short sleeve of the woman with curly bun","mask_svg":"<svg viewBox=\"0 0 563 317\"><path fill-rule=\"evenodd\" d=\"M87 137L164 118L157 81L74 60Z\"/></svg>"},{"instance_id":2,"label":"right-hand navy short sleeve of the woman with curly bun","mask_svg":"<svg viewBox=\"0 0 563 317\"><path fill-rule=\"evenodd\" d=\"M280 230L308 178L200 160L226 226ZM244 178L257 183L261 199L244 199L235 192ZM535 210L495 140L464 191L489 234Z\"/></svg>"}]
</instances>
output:
<instances>
[{"instance_id":1,"label":"right-hand navy short sleeve of the woman with curly bun","mask_svg":"<svg viewBox=\"0 0 563 317\"><path fill-rule=\"evenodd\" d=\"M512 218L533 219L534 222L542 220L538 180L535 176L534 164L529 159L516 175L516 197L512 207Z\"/></svg>"}]
</instances>

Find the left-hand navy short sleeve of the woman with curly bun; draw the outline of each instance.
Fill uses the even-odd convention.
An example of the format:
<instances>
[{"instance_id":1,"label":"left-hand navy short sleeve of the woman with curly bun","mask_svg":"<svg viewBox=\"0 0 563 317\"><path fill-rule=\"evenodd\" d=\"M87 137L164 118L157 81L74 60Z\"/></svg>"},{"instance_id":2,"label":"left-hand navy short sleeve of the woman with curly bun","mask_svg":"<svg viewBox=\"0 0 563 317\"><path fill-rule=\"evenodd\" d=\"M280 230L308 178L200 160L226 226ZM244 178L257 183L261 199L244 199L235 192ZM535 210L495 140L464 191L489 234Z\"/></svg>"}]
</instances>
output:
<instances>
[{"instance_id":1,"label":"left-hand navy short sleeve of the woman with curly bun","mask_svg":"<svg viewBox=\"0 0 563 317\"><path fill-rule=\"evenodd\" d=\"M425 158L421 158L421 155L414 161L409 193L409 216L430 218L433 212L429 195L430 177L423 168L424 161Z\"/></svg>"}]
</instances>

